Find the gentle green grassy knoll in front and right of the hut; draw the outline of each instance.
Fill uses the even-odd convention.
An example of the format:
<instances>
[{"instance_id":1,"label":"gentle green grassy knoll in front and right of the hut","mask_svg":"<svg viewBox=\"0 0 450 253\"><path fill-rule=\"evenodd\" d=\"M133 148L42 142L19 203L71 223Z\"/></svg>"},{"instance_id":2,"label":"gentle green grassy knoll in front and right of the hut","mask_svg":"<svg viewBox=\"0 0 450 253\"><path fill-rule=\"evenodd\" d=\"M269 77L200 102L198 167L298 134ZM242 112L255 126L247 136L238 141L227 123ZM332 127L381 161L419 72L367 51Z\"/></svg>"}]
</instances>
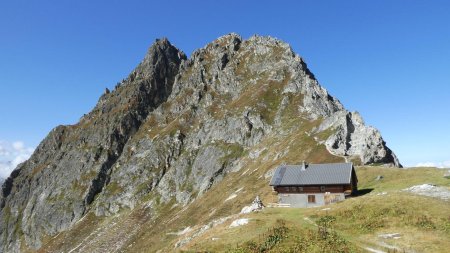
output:
<instances>
[{"instance_id":1,"label":"gentle green grassy knoll in front and right of the hut","mask_svg":"<svg viewBox=\"0 0 450 253\"><path fill-rule=\"evenodd\" d=\"M438 169L359 167L362 196L320 208L266 208L233 217L183 247L228 252L448 252L450 202L404 188L431 183L450 188ZM376 180L377 176L383 176ZM370 192L370 193L369 193ZM229 228L232 220L249 224ZM327 232L324 232L324 229ZM399 233L398 239L380 235Z\"/></svg>"}]
</instances>

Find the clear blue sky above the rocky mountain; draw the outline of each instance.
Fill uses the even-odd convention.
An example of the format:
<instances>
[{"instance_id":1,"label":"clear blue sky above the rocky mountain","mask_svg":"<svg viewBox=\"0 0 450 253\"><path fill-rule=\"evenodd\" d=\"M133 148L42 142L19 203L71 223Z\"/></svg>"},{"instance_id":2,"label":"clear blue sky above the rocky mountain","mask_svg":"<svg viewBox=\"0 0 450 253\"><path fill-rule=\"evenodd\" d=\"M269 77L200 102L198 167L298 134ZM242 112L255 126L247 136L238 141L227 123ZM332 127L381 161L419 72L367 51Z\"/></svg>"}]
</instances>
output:
<instances>
[{"instance_id":1,"label":"clear blue sky above the rocky mountain","mask_svg":"<svg viewBox=\"0 0 450 253\"><path fill-rule=\"evenodd\" d=\"M230 32L290 43L403 164L450 166L449 1L274 3L0 1L0 169L16 158L2 148L77 122L156 38L189 55Z\"/></svg>"}]
</instances>

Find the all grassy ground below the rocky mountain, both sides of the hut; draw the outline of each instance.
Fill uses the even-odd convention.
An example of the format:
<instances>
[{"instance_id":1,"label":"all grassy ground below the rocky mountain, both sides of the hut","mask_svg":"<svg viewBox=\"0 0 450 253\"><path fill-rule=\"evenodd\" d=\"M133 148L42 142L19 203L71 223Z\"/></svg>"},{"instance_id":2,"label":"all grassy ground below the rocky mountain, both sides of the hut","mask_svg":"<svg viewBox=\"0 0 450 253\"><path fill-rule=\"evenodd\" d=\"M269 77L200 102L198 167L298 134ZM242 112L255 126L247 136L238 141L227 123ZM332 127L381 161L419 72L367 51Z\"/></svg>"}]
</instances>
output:
<instances>
[{"instance_id":1,"label":"all grassy ground below the rocky mountain, both sides of the hut","mask_svg":"<svg viewBox=\"0 0 450 253\"><path fill-rule=\"evenodd\" d=\"M40 252L448 252L450 201L401 191L423 183L450 189L444 170L358 167L364 195L326 207L239 215L256 193L266 204L276 200L265 176L272 163L229 174L185 207L168 203L102 219L88 215L48 238ZM249 223L229 227L241 218ZM393 233L399 238L380 237Z\"/></svg>"}]
</instances>

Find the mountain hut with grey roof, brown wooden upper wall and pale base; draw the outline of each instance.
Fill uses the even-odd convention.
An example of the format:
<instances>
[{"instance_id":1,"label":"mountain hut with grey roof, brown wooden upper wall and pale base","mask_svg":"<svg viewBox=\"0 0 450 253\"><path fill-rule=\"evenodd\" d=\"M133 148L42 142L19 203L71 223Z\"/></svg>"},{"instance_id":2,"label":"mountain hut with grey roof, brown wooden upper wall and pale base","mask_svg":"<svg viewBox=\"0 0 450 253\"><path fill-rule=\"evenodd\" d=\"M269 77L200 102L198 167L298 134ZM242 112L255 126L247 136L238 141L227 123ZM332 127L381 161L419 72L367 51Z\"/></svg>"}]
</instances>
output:
<instances>
[{"instance_id":1,"label":"mountain hut with grey roof, brown wooden upper wall and pale base","mask_svg":"<svg viewBox=\"0 0 450 253\"><path fill-rule=\"evenodd\" d=\"M315 207L344 200L357 191L352 163L280 165L270 181L278 203Z\"/></svg>"}]
</instances>

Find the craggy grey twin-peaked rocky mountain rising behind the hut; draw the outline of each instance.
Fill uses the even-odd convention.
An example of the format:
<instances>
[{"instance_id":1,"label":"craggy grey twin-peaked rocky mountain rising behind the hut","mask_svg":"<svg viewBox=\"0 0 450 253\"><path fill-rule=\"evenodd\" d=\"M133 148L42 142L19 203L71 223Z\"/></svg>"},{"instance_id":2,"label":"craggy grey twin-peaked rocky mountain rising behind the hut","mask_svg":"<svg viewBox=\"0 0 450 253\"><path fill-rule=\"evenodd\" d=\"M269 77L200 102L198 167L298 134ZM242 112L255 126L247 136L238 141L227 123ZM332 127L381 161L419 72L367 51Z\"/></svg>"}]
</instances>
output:
<instances>
[{"instance_id":1,"label":"craggy grey twin-peaked rocky mountain rising behind the hut","mask_svg":"<svg viewBox=\"0 0 450 253\"><path fill-rule=\"evenodd\" d=\"M288 44L229 34L187 59L157 40L89 114L53 129L6 179L0 251L39 249L87 214L145 207L156 218L161 205L187 206L267 154L272 167L344 159L401 166Z\"/></svg>"}]
</instances>

